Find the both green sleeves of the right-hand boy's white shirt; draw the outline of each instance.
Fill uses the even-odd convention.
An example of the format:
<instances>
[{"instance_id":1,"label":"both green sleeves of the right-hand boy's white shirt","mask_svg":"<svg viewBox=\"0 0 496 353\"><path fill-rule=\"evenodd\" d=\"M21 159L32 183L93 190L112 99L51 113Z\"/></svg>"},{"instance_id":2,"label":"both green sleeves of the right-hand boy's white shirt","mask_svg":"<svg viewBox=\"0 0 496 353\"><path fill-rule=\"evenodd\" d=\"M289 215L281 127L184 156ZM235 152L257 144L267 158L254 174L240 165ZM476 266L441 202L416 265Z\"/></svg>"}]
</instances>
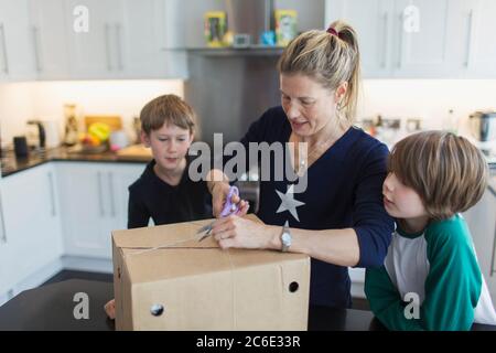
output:
<instances>
[{"instance_id":1,"label":"both green sleeves of the right-hand boy's white shirt","mask_svg":"<svg viewBox=\"0 0 496 353\"><path fill-rule=\"evenodd\" d=\"M386 268L367 269L370 309L389 330L470 330L482 276L463 221L439 222L425 232L430 270L419 319L405 317L405 303Z\"/></svg>"}]
</instances>

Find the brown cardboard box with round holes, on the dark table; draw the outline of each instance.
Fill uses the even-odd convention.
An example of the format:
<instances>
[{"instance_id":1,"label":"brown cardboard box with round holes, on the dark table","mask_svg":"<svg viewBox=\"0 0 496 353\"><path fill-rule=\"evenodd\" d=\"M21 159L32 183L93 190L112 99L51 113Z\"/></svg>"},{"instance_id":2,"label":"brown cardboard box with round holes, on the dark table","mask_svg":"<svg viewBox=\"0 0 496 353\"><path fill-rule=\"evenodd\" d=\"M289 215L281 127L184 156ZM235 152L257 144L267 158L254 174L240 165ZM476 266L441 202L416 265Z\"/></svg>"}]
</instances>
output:
<instances>
[{"instance_id":1,"label":"brown cardboard box with round holes, on the dark table","mask_svg":"<svg viewBox=\"0 0 496 353\"><path fill-rule=\"evenodd\" d=\"M198 243L209 222L112 233L116 329L306 330L310 258Z\"/></svg>"}]
</instances>

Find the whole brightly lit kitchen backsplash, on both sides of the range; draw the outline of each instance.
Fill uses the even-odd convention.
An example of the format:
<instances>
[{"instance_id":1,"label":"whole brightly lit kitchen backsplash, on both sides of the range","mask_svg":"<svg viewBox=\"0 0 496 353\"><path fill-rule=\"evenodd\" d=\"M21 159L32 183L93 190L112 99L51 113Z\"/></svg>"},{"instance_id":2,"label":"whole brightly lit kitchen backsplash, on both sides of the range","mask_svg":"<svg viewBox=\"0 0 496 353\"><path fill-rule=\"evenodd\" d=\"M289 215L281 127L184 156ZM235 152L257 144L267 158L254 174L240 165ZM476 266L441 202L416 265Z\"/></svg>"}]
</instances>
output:
<instances>
[{"instance_id":1,"label":"whole brightly lit kitchen backsplash, on both sides of the range","mask_svg":"<svg viewBox=\"0 0 496 353\"><path fill-rule=\"evenodd\" d=\"M367 79L358 104L358 119L377 115L388 118L421 118L422 128L445 126L449 110L467 131L470 114L496 109L496 81L473 79ZM63 128L63 105L77 104L84 114L120 115L132 131L132 117L151 98L173 93L184 96L182 81L35 82L0 84L2 145L24 135L26 121L55 119ZM219 93L222 94L222 93ZM201 117L200 117L201 118Z\"/></svg>"}]
</instances>

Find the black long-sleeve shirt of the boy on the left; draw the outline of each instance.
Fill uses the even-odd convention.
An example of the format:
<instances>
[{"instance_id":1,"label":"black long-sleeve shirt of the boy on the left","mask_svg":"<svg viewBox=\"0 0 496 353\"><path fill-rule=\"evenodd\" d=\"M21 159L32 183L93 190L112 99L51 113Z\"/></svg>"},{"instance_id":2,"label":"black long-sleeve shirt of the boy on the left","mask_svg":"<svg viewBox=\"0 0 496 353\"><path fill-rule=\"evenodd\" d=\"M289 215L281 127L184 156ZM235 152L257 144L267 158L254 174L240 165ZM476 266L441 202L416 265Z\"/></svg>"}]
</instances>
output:
<instances>
[{"instance_id":1,"label":"black long-sleeve shirt of the boy on the left","mask_svg":"<svg viewBox=\"0 0 496 353\"><path fill-rule=\"evenodd\" d=\"M176 186L161 180L151 161L141 176L129 186L128 228L145 227L150 217L155 225L212 218L212 199L206 182L193 182L187 168Z\"/></svg>"}]
</instances>

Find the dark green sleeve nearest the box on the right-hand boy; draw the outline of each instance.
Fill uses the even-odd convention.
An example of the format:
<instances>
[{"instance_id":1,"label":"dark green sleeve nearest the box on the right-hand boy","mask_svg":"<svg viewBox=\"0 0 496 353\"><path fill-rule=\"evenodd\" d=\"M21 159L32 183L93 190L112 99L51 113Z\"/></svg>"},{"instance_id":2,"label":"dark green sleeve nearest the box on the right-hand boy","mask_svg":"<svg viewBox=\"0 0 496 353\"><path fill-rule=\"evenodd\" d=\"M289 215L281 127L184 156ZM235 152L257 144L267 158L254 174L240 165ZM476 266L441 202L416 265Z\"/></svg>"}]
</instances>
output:
<instances>
[{"instance_id":1,"label":"dark green sleeve nearest the box on the right-hand boy","mask_svg":"<svg viewBox=\"0 0 496 353\"><path fill-rule=\"evenodd\" d=\"M365 293L374 315L388 330L422 330L420 320L408 320L405 317L405 302L391 282L384 266L367 268L365 275Z\"/></svg>"}]
</instances>

